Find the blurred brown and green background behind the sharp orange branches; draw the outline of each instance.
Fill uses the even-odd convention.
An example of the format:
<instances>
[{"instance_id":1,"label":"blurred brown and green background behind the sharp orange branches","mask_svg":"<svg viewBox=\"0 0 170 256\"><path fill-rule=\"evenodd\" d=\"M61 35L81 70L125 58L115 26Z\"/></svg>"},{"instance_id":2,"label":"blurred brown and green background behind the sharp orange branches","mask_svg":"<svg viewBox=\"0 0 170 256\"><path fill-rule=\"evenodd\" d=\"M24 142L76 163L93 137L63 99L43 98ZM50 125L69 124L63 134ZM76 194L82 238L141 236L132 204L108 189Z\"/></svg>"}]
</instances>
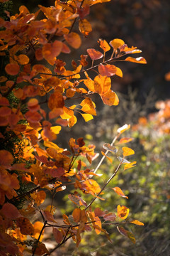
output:
<instances>
[{"instance_id":1,"label":"blurred brown and green background behind the sharp orange branches","mask_svg":"<svg viewBox=\"0 0 170 256\"><path fill-rule=\"evenodd\" d=\"M13 1L11 11L15 14L21 5L26 5L30 12L36 11L38 4L50 6L54 2L17 0ZM131 160L137 161L137 166L120 173L110 184L111 187L122 188L129 199L120 198L108 188L106 201L97 201L96 207L102 205L102 210L114 211L118 204L125 205L130 208L130 217L137 218L145 226L127 226L135 234L136 245L123 238L115 227L110 227L107 230L112 244L104 235L91 236L87 233L79 248L75 249L75 245L69 243L54 255L169 256L170 82L166 75L170 71L169 14L169 0L112 0L91 7L87 19L93 31L89 38L83 38L80 50L72 51L67 62L79 60L80 54L86 54L86 48L99 50L98 38L108 42L121 38L128 46L142 50L141 55L146 58L147 65L118 63L123 70L123 78L112 78L113 90L120 98L118 107L104 106L99 97L94 98L98 116L86 124L79 119L72 131L64 127L57 144L67 147L70 137L85 137L86 142L94 143L100 153L103 143L112 142L118 127L131 124L132 129L125 137L135 138L128 146L135 150ZM116 160L113 162L114 166L106 161L98 171L103 174L101 184L113 174ZM95 163L98 164L98 160ZM63 212L67 209L67 213L74 208L72 203L68 203L67 196L60 195L56 204ZM47 239L47 242L51 241Z\"/></svg>"}]
</instances>

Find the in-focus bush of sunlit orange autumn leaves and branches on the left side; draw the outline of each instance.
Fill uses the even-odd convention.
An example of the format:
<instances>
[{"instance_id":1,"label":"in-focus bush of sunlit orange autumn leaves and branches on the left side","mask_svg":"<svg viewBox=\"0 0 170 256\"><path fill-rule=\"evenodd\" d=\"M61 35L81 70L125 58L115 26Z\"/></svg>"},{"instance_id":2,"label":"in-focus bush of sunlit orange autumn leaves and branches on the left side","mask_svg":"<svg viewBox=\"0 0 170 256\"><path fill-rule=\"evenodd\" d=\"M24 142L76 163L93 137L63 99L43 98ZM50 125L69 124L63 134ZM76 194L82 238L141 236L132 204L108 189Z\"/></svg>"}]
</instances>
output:
<instances>
[{"instance_id":1,"label":"in-focus bush of sunlit orange autumn leaves and branches on the left side","mask_svg":"<svg viewBox=\"0 0 170 256\"><path fill-rule=\"evenodd\" d=\"M129 209L115 206L113 213L95 207L96 198L105 200L104 191L108 183L120 169L135 166L136 161L128 161L127 156L135 152L122 144L131 138L122 137L130 128L125 124L118 129L111 144L104 144L103 157L96 167L90 165L98 156L95 146L86 146L83 138L69 139L69 150L55 144L62 127L73 127L83 118L85 122L96 116L96 105L91 95L98 94L104 104L118 105L118 95L111 89L114 75L123 77L116 61L130 61L145 64L145 58L132 58L131 54L141 53L136 47L128 47L121 39L110 43L98 39L98 48L87 49L87 53L65 63L62 56L71 55L72 48L81 47L81 38L89 36L91 24L86 19L91 5L110 0L55 1L55 6L39 5L35 14L30 14L26 6L21 6L19 14L10 16L8 21L0 18L0 55L8 58L4 75L0 77L0 255L50 255L68 239L76 245L81 242L81 234L95 230L96 234L108 233L105 223L110 223L118 231L135 243L135 237L123 228L126 223L143 225L138 220L128 220ZM41 17L41 18L39 18ZM74 30L78 23L79 31ZM110 57L106 58L106 53ZM96 62L97 60L97 62ZM97 75L91 78L89 71ZM91 73L90 73L91 74ZM15 99L13 102L12 99ZM79 101L79 103L77 103ZM85 123L84 123L85 125ZM116 139L122 137L115 147ZM14 141L16 139L16 141ZM13 140L13 147L6 144ZM98 185L98 168L107 155L113 154L119 164L115 172ZM28 190L23 192L23 186ZM62 224L55 220L53 198L58 192L68 193L68 200L74 203L73 212L62 216ZM29 189L30 188L30 189ZM41 207L46 192L52 195L51 204ZM125 196L121 188L113 188L113 193ZM18 202L22 201L22 207ZM33 216L38 213L39 220ZM50 251L43 242L43 233L50 229L57 245Z\"/></svg>"}]
</instances>

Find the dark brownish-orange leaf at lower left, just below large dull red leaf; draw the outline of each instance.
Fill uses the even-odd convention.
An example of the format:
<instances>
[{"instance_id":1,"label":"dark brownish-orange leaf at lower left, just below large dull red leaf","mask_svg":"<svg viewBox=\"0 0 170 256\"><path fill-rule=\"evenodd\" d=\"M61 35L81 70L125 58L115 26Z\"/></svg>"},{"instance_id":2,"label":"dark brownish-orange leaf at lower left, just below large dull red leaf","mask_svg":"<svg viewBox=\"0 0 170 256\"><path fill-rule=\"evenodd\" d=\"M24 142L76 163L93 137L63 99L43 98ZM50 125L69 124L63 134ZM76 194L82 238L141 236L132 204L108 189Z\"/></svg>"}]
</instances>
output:
<instances>
[{"instance_id":1,"label":"dark brownish-orange leaf at lower left, just below large dull red leaf","mask_svg":"<svg viewBox=\"0 0 170 256\"><path fill-rule=\"evenodd\" d=\"M16 225L21 230L21 234L23 235L33 235L34 227L30 223L30 220L25 217L20 217L16 219Z\"/></svg>"}]
</instances>

